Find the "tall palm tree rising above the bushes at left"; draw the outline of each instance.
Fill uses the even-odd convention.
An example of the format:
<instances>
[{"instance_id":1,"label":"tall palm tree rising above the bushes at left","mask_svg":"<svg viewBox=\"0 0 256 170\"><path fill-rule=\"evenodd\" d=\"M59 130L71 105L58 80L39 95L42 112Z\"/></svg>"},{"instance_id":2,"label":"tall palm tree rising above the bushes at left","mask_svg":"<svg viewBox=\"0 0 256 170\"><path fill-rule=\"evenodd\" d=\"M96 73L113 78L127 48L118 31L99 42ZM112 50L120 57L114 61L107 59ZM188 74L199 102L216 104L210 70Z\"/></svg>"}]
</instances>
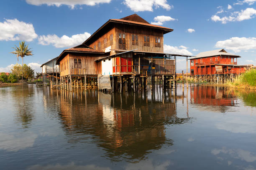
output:
<instances>
[{"instance_id":1,"label":"tall palm tree rising above the bushes at left","mask_svg":"<svg viewBox=\"0 0 256 170\"><path fill-rule=\"evenodd\" d=\"M15 47L13 47L13 49L15 51L10 52L10 53L15 54L18 61L19 61L19 57L22 58L22 75L21 75L21 77L22 77L22 82L23 82L23 57L28 56L28 55L33 55L32 54L33 51L31 50L31 48L28 48L28 45L25 44L25 41L21 41L19 43L20 43L20 46L17 47L15 45Z\"/></svg>"}]
</instances>

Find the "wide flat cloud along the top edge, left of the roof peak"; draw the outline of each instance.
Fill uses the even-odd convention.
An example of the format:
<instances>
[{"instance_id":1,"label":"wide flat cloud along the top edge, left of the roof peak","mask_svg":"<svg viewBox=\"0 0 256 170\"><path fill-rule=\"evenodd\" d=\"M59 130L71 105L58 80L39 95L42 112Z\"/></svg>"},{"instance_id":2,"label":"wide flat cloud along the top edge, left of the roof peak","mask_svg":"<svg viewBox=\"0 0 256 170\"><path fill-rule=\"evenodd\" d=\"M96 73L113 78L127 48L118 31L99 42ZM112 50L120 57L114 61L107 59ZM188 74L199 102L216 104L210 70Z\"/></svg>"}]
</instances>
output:
<instances>
[{"instance_id":1,"label":"wide flat cloud along the top edge, left of the roof peak","mask_svg":"<svg viewBox=\"0 0 256 170\"><path fill-rule=\"evenodd\" d=\"M28 4L31 5L42 5L46 4L48 6L55 5L60 7L61 5L68 5L71 9L74 9L75 5L89 5L94 6L100 3L109 3L111 0L26 0Z\"/></svg>"}]
</instances>

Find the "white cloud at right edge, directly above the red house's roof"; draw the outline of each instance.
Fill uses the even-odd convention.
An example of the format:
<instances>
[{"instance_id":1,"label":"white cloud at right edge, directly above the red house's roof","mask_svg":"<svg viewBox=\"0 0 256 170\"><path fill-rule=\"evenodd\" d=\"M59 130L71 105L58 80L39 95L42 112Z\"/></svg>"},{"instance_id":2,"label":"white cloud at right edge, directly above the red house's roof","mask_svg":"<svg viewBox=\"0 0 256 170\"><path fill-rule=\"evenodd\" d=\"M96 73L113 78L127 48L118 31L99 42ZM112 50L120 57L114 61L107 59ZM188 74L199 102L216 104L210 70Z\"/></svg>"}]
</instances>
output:
<instances>
[{"instance_id":1,"label":"white cloud at right edge, directly above the red house's roof","mask_svg":"<svg viewBox=\"0 0 256 170\"><path fill-rule=\"evenodd\" d=\"M228 40L216 42L215 47L233 50L234 52L240 52L241 50L252 50L256 49L256 38L231 37Z\"/></svg>"}]
</instances>

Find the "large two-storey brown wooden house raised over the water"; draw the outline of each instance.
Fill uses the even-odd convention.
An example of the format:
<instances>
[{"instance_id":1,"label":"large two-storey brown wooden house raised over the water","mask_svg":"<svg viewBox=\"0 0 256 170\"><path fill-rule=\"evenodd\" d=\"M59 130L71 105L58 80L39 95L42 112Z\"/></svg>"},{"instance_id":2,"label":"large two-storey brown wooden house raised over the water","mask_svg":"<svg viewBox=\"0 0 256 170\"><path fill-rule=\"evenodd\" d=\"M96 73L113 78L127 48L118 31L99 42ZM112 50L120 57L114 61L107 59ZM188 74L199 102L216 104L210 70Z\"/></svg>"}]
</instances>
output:
<instances>
[{"instance_id":1,"label":"large two-storey brown wooden house raised over the water","mask_svg":"<svg viewBox=\"0 0 256 170\"><path fill-rule=\"evenodd\" d=\"M123 79L127 83L131 77L173 77L174 55L165 54L163 48L164 34L172 31L152 25L137 14L110 19L81 45L59 55L60 75L71 82L72 77L84 77L87 82L86 77L108 75L112 88L114 82L117 85L119 80L122 86Z\"/></svg>"}]
</instances>

